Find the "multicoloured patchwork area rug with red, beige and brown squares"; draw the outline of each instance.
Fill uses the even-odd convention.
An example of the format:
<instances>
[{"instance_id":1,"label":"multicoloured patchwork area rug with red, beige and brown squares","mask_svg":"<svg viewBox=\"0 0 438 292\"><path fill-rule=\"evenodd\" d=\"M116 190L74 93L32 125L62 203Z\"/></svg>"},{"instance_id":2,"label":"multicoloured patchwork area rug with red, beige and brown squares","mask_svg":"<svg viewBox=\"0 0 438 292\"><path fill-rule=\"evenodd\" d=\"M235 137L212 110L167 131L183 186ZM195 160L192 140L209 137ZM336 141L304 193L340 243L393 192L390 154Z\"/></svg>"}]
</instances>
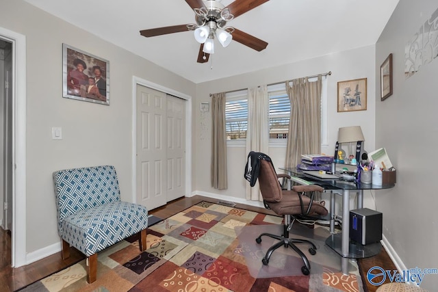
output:
<instances>
[{"instance_id":1,"label":"multicoloured patchwork area rug with red, beige and brown squares","mask_svg":"<svg viewBox=\"0 0 438 292\"><path fill-rule=\"evenodd\" d=\"M357 267L343 275L339 256L318 243L324 237L322 228L296 224L291 233L296 237L299 226L306 237L316 240L317 254L305 252L311 261L309 276L296 272L302 262L286 248L274 252L270 269L263 270L267 266L261 265L261 257L272 242L263 237L257 244L255 237L264 230L277 233L282 220L201 202L149 227L145 252L140 252L135 239L99 252L97 280L92 284L86 282L86 263L81 261L22 291L363 291Z\"/></svg>"}]
</instances>

